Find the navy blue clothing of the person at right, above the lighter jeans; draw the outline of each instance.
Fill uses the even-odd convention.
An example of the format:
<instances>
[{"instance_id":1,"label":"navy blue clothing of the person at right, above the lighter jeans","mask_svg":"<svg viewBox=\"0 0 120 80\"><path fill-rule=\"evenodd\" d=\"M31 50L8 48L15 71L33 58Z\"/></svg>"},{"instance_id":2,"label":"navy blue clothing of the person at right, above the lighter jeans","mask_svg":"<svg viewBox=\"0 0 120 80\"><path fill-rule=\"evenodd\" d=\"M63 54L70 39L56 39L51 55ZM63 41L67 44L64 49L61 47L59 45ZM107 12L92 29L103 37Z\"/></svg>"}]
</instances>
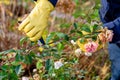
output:
<instances>
[{"instance_id":1,"label":"navy blue clothing of the person at right, above the lighter jeans","mask_svg":"<svg viewBox=\"0 0 120 80\"><path fill-rule=\"evenodd\" d=\"M111 3L112 4L112 3ZM100 19L103 23L103 27L107 27L109 30L112 30L114 35L112 39L112 43L117 43L120 41L120 16L117 15L115 18L114 15L118 14L115 11L114 8L110 8L110 4L107 2L107 0L101 0L102 7L100 8ZM112 5L112 7L115 7Z\"/></svg>"}]
</instances>

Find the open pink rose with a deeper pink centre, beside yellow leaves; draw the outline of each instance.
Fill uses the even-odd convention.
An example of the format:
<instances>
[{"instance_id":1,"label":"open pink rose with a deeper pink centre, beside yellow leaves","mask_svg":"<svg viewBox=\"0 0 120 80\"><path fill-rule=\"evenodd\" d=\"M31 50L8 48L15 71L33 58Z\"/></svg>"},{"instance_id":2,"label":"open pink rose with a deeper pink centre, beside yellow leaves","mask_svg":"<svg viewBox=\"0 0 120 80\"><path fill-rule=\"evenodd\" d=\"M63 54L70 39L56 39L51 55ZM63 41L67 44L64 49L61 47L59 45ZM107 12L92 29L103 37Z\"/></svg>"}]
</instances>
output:
<instances>
[{"instance_id":1,"label":"open pink rose with a deeper pink centre, beside yellow leaves","mask_svg":"<svg viewBox=\"0 0 120 80\"><path fill-rule=\"evenodd\" d=\"M95 42L88 42L84 45L86 52L93 53L97 50L98 44Z\"/></svg>"}]
</instances>

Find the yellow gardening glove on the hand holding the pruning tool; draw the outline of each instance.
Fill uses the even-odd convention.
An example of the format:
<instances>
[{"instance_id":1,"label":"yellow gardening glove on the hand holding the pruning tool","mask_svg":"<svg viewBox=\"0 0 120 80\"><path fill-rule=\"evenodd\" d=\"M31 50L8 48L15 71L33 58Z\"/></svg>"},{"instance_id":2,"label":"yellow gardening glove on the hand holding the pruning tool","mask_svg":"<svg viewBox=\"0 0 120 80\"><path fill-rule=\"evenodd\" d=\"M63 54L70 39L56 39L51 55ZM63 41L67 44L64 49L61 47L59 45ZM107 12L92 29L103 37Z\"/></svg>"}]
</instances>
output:
<instances>
[{"instance_id":1,"label":"yellow gardening glove on the hand holding the pruning tool","mask_svg":"<svg viewBox=\"0 0 120 80\"><path fill-rule=\"evenodd\" d=\"M31 41L39 40L47 27L48 18L53 9L54 6L48 0L38 0L18 29L24 31Z\"/></svg>"}]
</instances>

